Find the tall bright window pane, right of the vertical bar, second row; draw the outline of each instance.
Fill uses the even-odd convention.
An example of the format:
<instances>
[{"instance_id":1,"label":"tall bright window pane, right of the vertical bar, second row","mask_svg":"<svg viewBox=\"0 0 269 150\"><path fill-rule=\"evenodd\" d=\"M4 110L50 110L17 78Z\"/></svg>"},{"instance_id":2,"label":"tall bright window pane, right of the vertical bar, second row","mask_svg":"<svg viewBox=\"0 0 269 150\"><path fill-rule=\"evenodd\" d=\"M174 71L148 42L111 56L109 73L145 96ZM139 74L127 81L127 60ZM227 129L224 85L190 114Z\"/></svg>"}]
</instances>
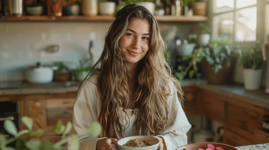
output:
<instances>
[{"instance_id":1,"label":"tall bright window pane, right of the vertical bar, second row","mask_svg":"<svg viewBox=\"0 0 269 150\"><path fill-rule=\"evenodd\" d=\"M247 8L236 12L235 40L256 41L257 8Z\"/></svg>"}]
</instances>

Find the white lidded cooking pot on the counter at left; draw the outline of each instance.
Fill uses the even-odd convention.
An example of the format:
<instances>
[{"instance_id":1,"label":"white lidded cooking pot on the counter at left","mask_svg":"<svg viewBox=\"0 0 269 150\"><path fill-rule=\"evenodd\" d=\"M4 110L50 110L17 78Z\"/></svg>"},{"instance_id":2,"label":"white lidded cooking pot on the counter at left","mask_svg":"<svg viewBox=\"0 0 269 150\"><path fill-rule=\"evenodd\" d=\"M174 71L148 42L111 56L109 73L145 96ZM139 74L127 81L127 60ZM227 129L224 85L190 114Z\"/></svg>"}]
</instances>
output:
<instances>
[{"instance_id":1,"label":"white lidded cooking pot on the counter at left","mask_svg":"<svg viewBox=\"0 0 269 150\"><path fill-rule=\"evenodd\" d=\"M56 69L56 66L41 65L38 62L35 66L26 69L26 80L30 83L50 83Z\"/></svg>"}]
</instances>

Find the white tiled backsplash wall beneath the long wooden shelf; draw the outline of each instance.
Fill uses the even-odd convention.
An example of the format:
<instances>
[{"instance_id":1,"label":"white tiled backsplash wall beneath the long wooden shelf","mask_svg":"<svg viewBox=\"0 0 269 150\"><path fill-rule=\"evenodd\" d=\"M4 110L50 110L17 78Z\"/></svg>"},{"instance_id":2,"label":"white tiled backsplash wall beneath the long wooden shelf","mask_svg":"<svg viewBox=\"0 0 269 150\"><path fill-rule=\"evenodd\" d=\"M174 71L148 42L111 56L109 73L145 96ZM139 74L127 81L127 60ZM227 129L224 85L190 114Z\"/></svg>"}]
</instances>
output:
<instances>
[{"instance_id":1,"label":"white tiled backsplash wall beneath the long wooden shelf","mask_svg":"<svg viewBox=\"0 0 269 150\"><path fill-rule=\"evenodd\" d=\"M44 64L65 61L79 65L79 59L88 56L89 41L93 38L94 62L97 61L110 25L111 22L1 22L0 81L22 80L22 69L35 65L37 61ZM194 27L190 24L161 24L160 28L169 29L174 25L179 27L181 38L191 33L191 27ZM45 52L44 49L51 44L58 44L59 52Z\"/></svg>"}]
</instances>

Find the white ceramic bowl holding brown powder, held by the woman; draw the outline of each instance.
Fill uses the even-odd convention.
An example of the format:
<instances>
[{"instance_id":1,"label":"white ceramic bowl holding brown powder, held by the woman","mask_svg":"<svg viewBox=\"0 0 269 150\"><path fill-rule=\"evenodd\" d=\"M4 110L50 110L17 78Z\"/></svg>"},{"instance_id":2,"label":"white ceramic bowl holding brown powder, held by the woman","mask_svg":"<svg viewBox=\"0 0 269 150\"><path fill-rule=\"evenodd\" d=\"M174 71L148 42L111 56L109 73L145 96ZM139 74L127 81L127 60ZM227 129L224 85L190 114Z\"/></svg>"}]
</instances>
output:
<instances>
[{"instance_id":1,"label":"white ceramic bowl holding brown powder, held by the woman","mask_svg":"<svg viewBox=\"0 0 269 150\"><path fill-rule=\"evenodd\" d=\"M126 144L130 140L137 139L139 141L146 141L149 143L151 146L147 147L126 147L122 146L123 144ZM157 150L159 147L159 139L155 137L150 137L150 136L130 136L130 137L125 137L123 139L120 139L118 141L118 146L120 150Z\"/></svg>"}]
</instances>

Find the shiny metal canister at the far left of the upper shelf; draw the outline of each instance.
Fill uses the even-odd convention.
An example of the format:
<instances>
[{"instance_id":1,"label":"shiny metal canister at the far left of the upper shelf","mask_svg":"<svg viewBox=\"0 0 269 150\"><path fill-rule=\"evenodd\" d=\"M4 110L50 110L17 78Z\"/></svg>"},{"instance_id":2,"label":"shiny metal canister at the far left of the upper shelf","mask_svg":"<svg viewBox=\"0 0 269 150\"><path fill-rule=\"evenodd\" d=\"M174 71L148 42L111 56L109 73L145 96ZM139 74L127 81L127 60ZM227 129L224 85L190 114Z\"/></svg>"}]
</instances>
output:
<instances>
[{"instance_id":1,"label":"shiny metal canister at the far left of the upper shelf","mask_svg":"<svg viewBox=\"0 0 269 150\"><path fill-rule=\"evenodd\" d=\"M5 16L23 14L23 0L3 0L3 3Z\"/></svg>"}]
</instances>

